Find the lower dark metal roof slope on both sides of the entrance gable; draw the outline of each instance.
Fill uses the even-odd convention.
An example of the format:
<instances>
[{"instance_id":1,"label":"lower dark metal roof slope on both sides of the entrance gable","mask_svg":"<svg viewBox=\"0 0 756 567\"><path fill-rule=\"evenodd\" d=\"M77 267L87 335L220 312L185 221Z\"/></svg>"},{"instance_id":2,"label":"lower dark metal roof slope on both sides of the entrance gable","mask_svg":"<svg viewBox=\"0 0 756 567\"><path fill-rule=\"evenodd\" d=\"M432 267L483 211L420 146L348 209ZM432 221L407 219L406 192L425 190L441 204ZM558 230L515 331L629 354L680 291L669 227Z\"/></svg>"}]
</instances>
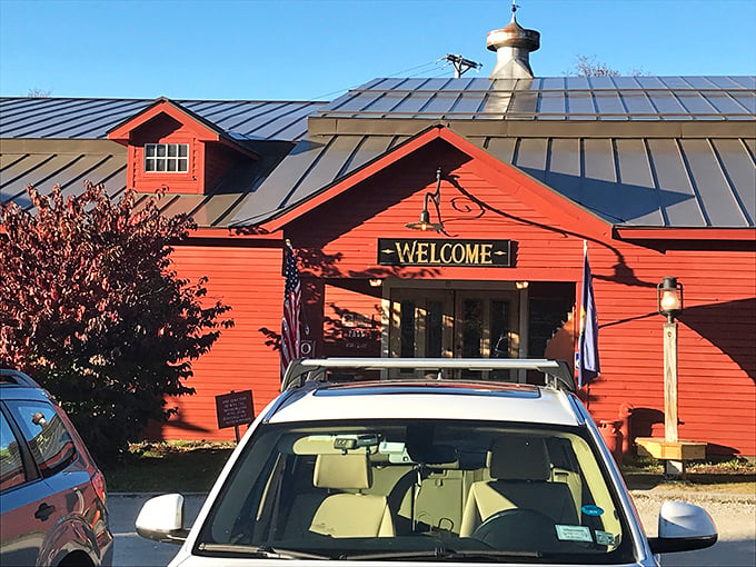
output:
<instances>
[{"instance_id":1,"label":"lower dark metal roof slope on both sides of the entrance gable","mask_svg":"<svg viewBox=\"0 0 756 567\"><path fill-rule=\"evenodd\" d=\"M754 138L468 140L611 225L747 228L756 219ZM245 197L230 222L276 217L406 139L337 135L302 140L259 190Z\"/></svg>"}]
</instances>

